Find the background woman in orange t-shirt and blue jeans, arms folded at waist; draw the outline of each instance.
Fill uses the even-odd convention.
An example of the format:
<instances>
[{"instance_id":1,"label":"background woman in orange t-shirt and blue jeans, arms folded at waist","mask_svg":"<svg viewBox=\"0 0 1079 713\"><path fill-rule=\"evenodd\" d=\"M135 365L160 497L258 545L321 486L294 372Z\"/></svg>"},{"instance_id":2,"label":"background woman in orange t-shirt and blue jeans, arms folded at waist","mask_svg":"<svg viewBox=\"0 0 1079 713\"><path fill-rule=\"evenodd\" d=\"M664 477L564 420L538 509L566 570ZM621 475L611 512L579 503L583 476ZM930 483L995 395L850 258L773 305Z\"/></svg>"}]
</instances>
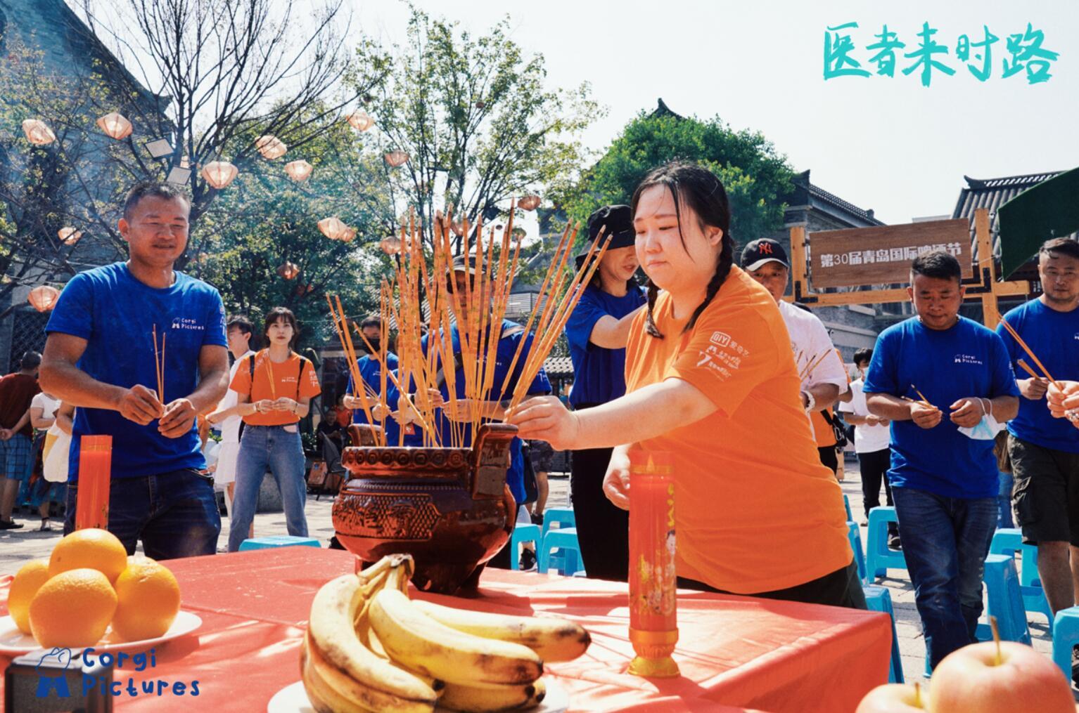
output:
<instances>
[{"instance_id":1,"label":"background woman in orange t-shirt and blue jeans, arms folded at waist","mask_svg":"<svg viewBox=\"0 0 1079 713\"><path fill-rule=\"evenodd\" d=\"M298 423L322 389L314 365L292 351L297 332L290 310L271 309L262 335L270 346L245 359L229 387L236 392L240 415L244 417L229 527L230 553L240 549L248 534L268 467L281 490L288 534L308 536L303 514L308 485Z\"/></svg>"}]
</instances>

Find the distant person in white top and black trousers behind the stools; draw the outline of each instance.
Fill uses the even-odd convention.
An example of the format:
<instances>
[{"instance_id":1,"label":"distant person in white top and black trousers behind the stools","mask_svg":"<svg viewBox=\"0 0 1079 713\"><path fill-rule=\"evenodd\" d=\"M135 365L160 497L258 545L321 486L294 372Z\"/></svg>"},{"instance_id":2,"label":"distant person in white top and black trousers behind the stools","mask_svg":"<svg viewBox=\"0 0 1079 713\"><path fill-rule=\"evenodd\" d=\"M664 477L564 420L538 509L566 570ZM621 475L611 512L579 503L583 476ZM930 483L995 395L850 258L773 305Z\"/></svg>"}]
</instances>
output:
<instances>
[{"instance_id":1,"label":"distant person in white top and black trousers behind the stools","mask_svg":"<svg viewBox=\"0 0 1079 713\"><path fill-rule=\"evenodd\" d=\"M890 421L870 414L865 406L865 394L862 387L865 382L865 369L873 359L872 349L859 349L855 352L855 366L859 378L850 382L850 403L843 404L839 409L855 427L855 451L858 453L858 465L862 472L862 504L865 515L874 507L880 506L880 483L884 483L885 501L891 505L891 486L888 484L888 469L891 467L891 429ZM862 525L866 525L862 522ZM899 528L894 522L888 523L888 546L899 549Z\"/></svg>"}]
</instances>

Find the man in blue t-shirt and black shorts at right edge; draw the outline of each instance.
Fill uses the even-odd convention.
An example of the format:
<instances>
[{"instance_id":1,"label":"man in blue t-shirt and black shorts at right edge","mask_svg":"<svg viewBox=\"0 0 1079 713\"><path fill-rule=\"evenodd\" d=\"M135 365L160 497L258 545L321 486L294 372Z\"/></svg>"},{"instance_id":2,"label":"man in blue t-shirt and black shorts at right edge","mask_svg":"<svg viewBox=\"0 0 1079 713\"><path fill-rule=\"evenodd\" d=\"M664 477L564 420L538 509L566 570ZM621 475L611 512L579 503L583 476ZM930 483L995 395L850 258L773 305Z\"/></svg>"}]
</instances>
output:
<instances>
[{"instance_id":1,"label":"man in blue t-shirt and black shorts at right edge","mask_svg":"<svg viewBox=\"0 0 1079 713\"><path fill-rule=\"evenodd\" d=\"M1079 242L1046 242L1038 275L1043 294L1005 319L1054 379L1079 380ZM1008 424L1012 504L1024 541L1038 546L1038 575L1055 614L1074 606L1079 593L1074 585L1079 577L1079 430L1052 417L1046 402L1049 380L1020 367L1022 359L1040 374L1003 324L997 334L1008 347L1023 394L1019 416Z\"/></svg>"}]
</instances>

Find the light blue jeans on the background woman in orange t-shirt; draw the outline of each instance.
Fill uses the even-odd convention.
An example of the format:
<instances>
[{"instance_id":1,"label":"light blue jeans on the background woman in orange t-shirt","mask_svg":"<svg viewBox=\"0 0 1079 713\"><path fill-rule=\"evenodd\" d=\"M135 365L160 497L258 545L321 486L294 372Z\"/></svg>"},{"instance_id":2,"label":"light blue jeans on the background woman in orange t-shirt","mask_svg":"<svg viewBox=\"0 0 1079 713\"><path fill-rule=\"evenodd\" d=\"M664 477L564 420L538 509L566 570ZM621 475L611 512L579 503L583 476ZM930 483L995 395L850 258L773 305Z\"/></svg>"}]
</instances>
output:
<instances>
[{"instance_id":1,"label":"light blue jeans on the background woman in orange t-shirt","mask_svg":"<svg viewBox=\"0 0 1079 713\"><path fill-rule=\"evenodd\" d=\"M240 455L236 457L236 491L232 498L232 519L229 525L230 553L237 551L241 543L247 539L267 467L273 473L277 489L281 490L288 534L308 536L308 518L303 514L303 506L308 501L308 484L303 480L305 464L299 429L296 433L288 433L283 425L244 428L244 435L240 439Z\"/></svg>"}]
</instances>

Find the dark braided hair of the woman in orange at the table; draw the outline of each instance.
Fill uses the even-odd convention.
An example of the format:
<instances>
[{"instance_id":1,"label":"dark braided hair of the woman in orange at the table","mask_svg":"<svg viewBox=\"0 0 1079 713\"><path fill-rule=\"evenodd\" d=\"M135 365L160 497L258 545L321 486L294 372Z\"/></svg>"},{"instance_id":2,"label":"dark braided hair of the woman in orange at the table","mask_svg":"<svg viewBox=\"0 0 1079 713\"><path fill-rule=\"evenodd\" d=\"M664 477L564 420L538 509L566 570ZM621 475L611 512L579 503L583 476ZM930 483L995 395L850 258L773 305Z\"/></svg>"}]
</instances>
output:
<instances>
[{"instance_id":1,"label":"dark braided hair of the woman in orange at the table","mask_svg":"<svg viewBox=\"0 0 1079 713\"><path fill-rule=\"evenodd\" d=\"M674 214L679 224L679 233L683 236L683 247L685 246L685 237L682 232L682 206L689 208L696 214L701 229L711 226L718 227L723 232L722 247L716 260L715 274L708 281L705 300L697 306L697 309L693 312L693 317L689 318L685 328L682 331L685 334L696 325L697 318L711 304L720 288L723 286L723 282L727 279L727 275L730 274L732 265L734 265L735 241L730 237L730 204L727 200L727 193L723 187L723 182L715 173L697 164L672 160L650 171L637 186L637 190L633 191L630 207L634 215L637 214L637 205L640 201L641 194L645 190L656 185L665 186L671 192L674 198ZM644 322L644 330L650 336L663 339L664 335L659 331L659 327L656 326L652 314L658 294L659 289L648 278L648 311Z\"/></svg>"}]
</instances>

